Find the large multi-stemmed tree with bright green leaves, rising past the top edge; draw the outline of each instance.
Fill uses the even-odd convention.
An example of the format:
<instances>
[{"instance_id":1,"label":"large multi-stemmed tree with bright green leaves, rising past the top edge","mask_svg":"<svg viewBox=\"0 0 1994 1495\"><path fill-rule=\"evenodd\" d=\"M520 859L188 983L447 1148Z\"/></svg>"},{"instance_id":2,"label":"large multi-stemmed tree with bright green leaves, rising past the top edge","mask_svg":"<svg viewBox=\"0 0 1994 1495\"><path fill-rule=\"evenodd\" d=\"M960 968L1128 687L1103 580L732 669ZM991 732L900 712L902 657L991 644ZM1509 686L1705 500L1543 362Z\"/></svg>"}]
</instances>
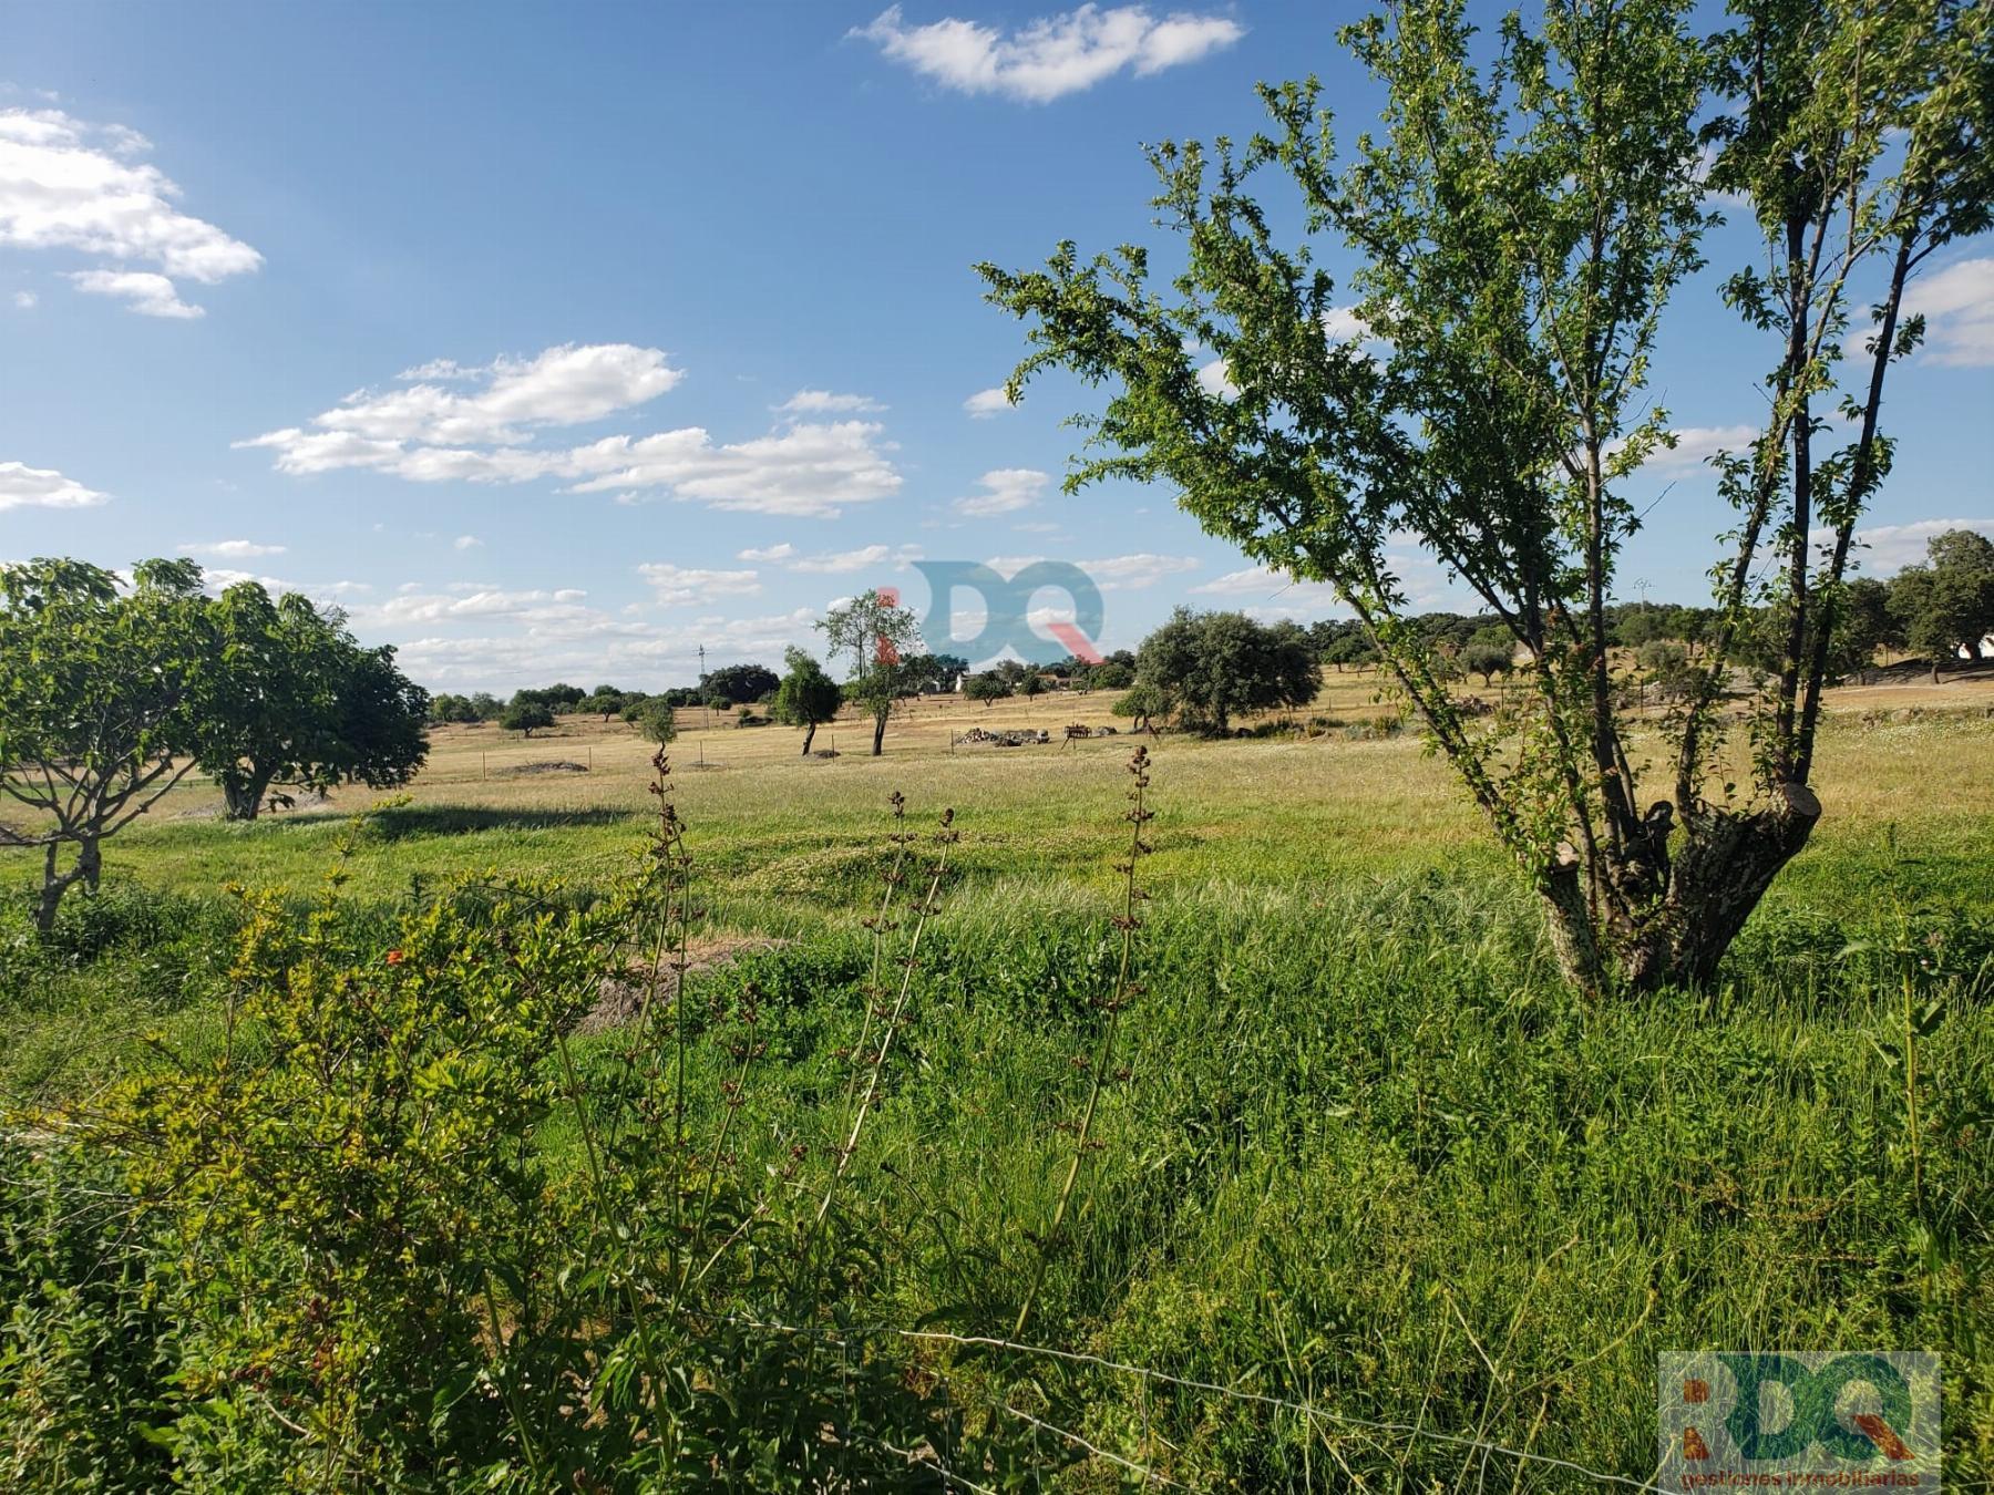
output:
<instances>
[{"instance_id":1,"label":"large multi-stemmed tree with bright green leaves, rising past the top edge","mask_svg":"<svg viewBox=\"0 0 1994 1495\"><path fill-rule=\"evenodd\" d=\"M1541 893L1577 985L1703 981L1821 813L1807 779L1848 536L1888 466L1884 373L1916 341L1904 279L1986 219L1986 8L1938 0L1781 0L1699 40L1681 0L1551 0L1484 44L1462 0L1408 0L1342 34L1388 98L1350 150L1314 84L1286 84L1262 88L1272 128L1246 146L1151 151L1182 237L1166 283L1139 245L983 265L1031 325L1011 395L1043 369L1107 387L1069 488L1168 480L1210 532L1334 584ZM1643 795L1607 606L1639 528L1631 478L1671 443L1645 383L1669 295L1701 263L1711 151L1773 255L1727 295L1779 353L1767 427L1721 468L1741 510L1719 568L1729 626L1675 724L1673 793ZM1252 195L1272 171L1300 195L1296 247ZM1356 261L1362 341L1324 245ZM1830 339L1870 283L1858 435L1817 456ZM1811 568L1813 526L1832 542ZM1410 624L1406 532L1517 646L1529 688L1494 716L1456 704ZM1735 797L1719 702L1769 562L1783 668Z\"/></svg>"}]
</instances>

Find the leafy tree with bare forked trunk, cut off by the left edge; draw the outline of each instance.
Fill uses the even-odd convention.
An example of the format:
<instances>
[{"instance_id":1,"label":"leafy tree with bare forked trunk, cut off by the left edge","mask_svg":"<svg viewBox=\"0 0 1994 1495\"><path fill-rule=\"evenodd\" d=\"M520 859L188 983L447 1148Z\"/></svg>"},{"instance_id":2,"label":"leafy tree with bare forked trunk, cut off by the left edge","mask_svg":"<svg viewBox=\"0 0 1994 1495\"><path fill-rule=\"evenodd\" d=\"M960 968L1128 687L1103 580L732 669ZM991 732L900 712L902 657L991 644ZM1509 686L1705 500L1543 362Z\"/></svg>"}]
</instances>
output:
<instances>
[{"instance_id":1,"label":"leafy tree with bare forked trunk, cut off by the left edge","mask_svg":"<svg viewBox=\"0 0 1994 1495\"><path fill-rule=\"evenodd\" d=\"M102 841L193 767L211 660L193 562L140 562L130 586L80 560L0 566L0 793L32 811L0 841L42 849L38 929L78 881L96 887Z\"/></svg>"}]
</instances>

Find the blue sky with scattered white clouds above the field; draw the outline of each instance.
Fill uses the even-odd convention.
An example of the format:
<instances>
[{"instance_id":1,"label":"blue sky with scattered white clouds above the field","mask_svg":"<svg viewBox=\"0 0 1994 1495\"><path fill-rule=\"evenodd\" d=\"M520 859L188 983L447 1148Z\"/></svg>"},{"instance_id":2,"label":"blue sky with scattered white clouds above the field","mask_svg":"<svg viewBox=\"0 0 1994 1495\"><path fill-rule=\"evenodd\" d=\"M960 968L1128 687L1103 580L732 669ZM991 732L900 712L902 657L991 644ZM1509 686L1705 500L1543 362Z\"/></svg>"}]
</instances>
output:
<instances>
[{"instance_id":1,"label":"blue sky with scattered white clouds above the field","mask_svg":"<svg viewBox=\"0 0 1994 1495\"><path fill-rule=\"evenodd\" d=\"M1021 329L971 265L1155 239L1139 144L1248 134L1256 80L1372 118L1356 14L8 6L0 558L193 554L337 600L439 690L776 662L863 586L925 610L913 556L1089 566L1107 648L1176 602L1324 616L1168 490L1063 498L1085 395L977 401ZM1749 253L1713 235L1677 295L1653 393L1685 441L1629 488L1659 500L1629 594L1707 590L1695 458L1771 357L1715 299ZM1914 303L1876 572L1994 532L1994 245Z\"/></svg>"}]
</instances>

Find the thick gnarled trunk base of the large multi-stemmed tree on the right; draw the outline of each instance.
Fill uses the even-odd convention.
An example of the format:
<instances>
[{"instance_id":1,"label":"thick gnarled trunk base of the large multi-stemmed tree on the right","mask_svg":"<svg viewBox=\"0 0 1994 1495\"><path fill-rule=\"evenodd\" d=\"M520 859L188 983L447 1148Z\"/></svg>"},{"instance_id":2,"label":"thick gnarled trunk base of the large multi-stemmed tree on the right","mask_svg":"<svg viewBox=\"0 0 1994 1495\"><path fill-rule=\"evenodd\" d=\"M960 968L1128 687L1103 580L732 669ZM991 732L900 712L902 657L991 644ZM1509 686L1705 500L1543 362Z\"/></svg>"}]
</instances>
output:
<instances>
[{"instance_id":1,"label":"thick gnarled trunk base of the large multi-stemmed tree on the right","mask_svg":"<svg viewBox=\"0 0 1994 1495\"><path fill-rule=\"evenodd\" d=\"M1565 979L1587 993L1625 995L1707 985L1819 819L1821 801L1805 783L1781 785L1769 809L1691 811L1673 861L1601 867L1603 919L1591 917L1577 855L1561 849L1537 891Z\"/></svg>"}]
</instances>

